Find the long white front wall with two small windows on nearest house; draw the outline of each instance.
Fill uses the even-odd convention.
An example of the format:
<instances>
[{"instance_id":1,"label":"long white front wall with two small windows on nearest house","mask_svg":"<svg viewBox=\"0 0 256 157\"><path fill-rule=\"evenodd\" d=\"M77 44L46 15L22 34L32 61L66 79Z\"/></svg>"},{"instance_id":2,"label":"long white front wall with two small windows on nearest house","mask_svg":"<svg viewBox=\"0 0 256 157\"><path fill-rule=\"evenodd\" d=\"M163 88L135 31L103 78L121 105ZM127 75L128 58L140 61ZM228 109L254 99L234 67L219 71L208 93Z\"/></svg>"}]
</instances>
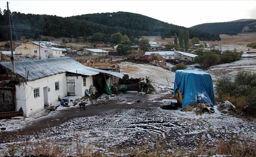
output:
<instances>
[{"instance_id":1,"label":"long white front wall with two small windows on nearest house","mask_svg":"<svg viewBox=\"0 0 256 157\"><path fill-rule=\"evenodd\" d=\"M55 90L55 82L59 82L59 90ZM39 88L39 97L34 97L34 89ZM46 94L44 95L44 88ZM29 117L45 106L45 98L48 105L58 100L58 97L67 95L67 80L66 73L45 77L42 79L29 81L16 85L16 108L21 108L24 111L24 116Z\"/></svg>"}]
</instances>

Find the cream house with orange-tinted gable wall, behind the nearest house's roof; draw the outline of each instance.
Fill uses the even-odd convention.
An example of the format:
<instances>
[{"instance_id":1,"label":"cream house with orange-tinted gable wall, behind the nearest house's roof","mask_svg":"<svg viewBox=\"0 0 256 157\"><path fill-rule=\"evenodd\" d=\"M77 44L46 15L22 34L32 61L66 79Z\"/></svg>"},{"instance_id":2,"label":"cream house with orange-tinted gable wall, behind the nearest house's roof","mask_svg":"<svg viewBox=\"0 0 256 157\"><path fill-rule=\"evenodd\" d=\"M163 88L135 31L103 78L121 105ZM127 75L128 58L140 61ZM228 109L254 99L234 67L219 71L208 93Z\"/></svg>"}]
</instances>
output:
<instances>
[{"instance_id":1,"label":"cream house with orange-tinted gable wall, behind the nearest house's roof","mask_svg":"<svg viewBox=\"0 0 256 157\"><path fill-rule=\"evenodd\" d=\"M52 42L28 41L16 47L15 53L22 55L32 55L42 59L65 57L64 51L66 49L54 47L56 45L57 44Z\"/></svg>"}]
</instances>

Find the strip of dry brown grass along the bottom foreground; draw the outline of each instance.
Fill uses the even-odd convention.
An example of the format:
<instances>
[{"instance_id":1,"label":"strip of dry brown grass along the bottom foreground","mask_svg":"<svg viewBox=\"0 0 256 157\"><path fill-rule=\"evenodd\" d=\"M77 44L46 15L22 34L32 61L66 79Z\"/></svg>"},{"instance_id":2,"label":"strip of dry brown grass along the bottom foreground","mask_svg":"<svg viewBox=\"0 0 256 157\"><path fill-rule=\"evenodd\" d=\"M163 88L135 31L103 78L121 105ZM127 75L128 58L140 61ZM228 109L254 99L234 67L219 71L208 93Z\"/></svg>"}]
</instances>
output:
<instances>
[{"instance_id":1,"label":"strip of dry brown grass along the bottom foreground","mask_svg":"<svg viewBox=\"0 0 256 157\"><path fill-rule=\"evenodd\" d=\"M66 157L77 156L77 157L178 157L178 156L187 156L187 157L196 157L196 156L207 156L210 157L214 154L221 155L232 155L232 157L255 157L256 156L256 147L254 141L251 141L250 137L240 137L240 140L243 139L244 142L239 143L238 137L233 137L229 141L216 141L216 145L212 148L203 144L205 141L204 136L201 137L201 140L197 144L197 149L193 151L181 150L178 146L173 146L172 148L166 148L165 143L168 142L165 138L159 136L159 139L155 142L154 146L150 146L148 143L144 142L141 146L138 146L136 149L128 149L126 145L119 148L109 148L104 153L99 152L98 150L92 149L94 146L97 147L97 144L87 144L84 145L79 134L73 134L75 137L75 146L71 147L69 143L57 143L53 140L48 141L35 141L29 142L25 140L20 143L17 141L12 142L8 145L8 151L2 153L2 155L15 156L21 154L22 156L26 155L35 155L35 156L55 156L55 157ZM252 145L248 144L252 143ZM254 144L253 144L254 143ZM68 149L67 149L68 148Z\"/></svg>"}]
</instances>

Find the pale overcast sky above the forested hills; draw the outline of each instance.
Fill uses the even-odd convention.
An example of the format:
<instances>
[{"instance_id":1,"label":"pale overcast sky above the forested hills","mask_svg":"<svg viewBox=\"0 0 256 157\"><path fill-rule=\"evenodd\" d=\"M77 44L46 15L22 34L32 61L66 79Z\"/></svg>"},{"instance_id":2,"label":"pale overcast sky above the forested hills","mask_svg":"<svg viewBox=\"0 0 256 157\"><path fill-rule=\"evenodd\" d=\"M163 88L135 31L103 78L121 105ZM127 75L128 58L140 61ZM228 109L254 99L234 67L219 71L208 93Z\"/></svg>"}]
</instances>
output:
<instances>
[{"instance_id":1,"label":"pale overcast sky above the forested hills","mask_svg":"<svg viewBox=\"0 0 256 157\"><path fill-rule=\"evenodd\" d=\"M0 0L2 11L69 17L118 11L183 27L256 19L256 0Z\"/></svg>"}]
</instances>

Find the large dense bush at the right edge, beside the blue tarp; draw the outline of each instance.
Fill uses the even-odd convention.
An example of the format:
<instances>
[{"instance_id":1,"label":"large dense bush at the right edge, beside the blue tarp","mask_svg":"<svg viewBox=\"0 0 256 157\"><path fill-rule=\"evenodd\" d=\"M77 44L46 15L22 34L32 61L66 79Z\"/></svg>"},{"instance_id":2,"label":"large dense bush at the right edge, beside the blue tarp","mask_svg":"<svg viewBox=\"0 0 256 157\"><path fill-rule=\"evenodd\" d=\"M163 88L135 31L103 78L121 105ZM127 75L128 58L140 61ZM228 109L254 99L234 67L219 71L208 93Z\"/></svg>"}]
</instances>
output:
<instances>
[{"instance_id":1,"label":"large dense bush at the right edge, beside the blue tarp","mask_svg":"<svg viewBox=\"0 0 256 157\"><path fill-rule=\"evenodd\" d=\"M216 83L216 92L220 101L229 100L238 110L249 106L251 113L256 115L256 74L250 71L240 71L232 80L223 77Z\"/></svg>"}]
</instances>

